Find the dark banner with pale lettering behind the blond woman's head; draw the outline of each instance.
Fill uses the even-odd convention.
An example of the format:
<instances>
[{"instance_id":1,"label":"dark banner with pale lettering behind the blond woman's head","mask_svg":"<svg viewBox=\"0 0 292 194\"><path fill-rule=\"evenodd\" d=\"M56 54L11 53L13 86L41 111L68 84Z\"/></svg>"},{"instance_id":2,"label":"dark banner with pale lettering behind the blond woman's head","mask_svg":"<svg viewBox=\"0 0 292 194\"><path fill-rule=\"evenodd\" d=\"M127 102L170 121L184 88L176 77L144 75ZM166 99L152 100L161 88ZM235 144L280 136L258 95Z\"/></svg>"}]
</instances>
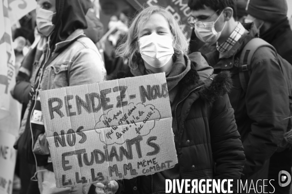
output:
<instances>
[{"instance_id":1,"label":"dark banner with pale lettering behind the blond woman's head","mask_svg":"<svg viewBox=\"0 0 292 194\"><path fill-rule=\"evenodd\" d=\"M180 24L181 29L187 39L191 37L192 27L188 24L191 20L191 10L187 6L188 0L127 0L136 10L143 9L146 6L159 5L169 11L176 21Z\"/></svg>"}]
</instances>

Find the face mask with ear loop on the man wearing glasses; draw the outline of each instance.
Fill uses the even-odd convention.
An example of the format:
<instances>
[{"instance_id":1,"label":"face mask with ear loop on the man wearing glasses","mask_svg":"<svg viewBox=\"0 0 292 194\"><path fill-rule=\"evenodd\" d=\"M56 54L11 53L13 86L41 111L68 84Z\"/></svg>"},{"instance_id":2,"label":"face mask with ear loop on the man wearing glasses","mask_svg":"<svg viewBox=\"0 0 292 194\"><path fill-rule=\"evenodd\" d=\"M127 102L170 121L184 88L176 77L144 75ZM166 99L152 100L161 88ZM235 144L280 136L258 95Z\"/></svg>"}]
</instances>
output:
<instances>
[{"instance_id":1,"label":"face mask with ear loop on the man wearing glasses","mask_svg":"<svg viewBox=\"0 0 292 194\"><path fill-rule=\"evenodd\" d=\"M219 17L222 15L223 12L219 15ZM201 24L198 26L195 24L195 33L197 37L205 43L213 44L218 41L222 31L225 28L226 22L224 22L224 26L220 32L216 32L215 30L215 23L218 21L219 17L216 19L216 21L212 22L201 22Z\"/></svg>"}]
</instances>

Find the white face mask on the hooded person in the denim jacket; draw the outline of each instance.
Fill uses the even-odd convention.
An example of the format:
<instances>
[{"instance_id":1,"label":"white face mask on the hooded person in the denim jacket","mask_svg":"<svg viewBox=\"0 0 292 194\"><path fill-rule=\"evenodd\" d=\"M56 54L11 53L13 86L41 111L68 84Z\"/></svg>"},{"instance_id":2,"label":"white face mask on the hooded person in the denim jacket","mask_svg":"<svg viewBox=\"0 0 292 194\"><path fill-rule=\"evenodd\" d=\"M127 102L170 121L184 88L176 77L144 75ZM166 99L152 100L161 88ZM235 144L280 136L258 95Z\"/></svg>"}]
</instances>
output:
<instances>
[{"instance_id":1,"label":"white face mask on the hooded person in the denim jacket","mask_svg":"<svg viewBox=\"0 0 292 194\"><path fill-rule=\"evenodd\" d=\"M55 29L55 25L52 23L53 16L56 13L37 8L37 30L44 36L49 36Z\"/></svg>"}]
</instances>

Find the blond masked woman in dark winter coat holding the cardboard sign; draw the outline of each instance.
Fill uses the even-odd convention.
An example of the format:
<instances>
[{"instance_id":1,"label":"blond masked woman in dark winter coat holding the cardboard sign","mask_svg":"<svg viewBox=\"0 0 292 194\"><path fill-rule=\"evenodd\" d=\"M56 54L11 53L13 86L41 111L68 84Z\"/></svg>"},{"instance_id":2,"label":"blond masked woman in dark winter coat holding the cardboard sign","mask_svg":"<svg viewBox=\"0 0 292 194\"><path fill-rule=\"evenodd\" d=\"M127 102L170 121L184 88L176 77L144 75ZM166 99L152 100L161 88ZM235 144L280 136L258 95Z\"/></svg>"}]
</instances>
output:
<instances>
[{"instance_id":1,"label":"blond masked woman in dark winter coat holding the cardboard sign","mask_svg":"<svg viewBox=\"0 0 292 194\"><path fill-rule=\"evenodd\" d=\"M158 6L136 16L118 49L131 69L117 78L165 72L179 163L153 175L111 181L114 193L164 193L166 179L233 179L231 190L237 193L245 155L227 96L230 75L213 75L201 53L187 56L187 49L175 18ZM102 194L104 185L95 185Z\"/></svg>"}]
</instances>

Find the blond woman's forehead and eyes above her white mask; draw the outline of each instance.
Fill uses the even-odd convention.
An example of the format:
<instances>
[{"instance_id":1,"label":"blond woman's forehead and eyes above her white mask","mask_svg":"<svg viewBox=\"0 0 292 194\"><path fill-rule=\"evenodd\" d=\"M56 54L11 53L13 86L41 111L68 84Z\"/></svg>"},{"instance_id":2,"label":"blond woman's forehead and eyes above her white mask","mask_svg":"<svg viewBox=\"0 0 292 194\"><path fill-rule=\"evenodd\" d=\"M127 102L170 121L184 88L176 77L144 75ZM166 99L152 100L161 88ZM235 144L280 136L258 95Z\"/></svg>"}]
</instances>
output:
<instances>
[{"instance_id":1,"label":"blond woman's forehead and eyes above her white mask","mask_svg":"<svg viewBox=\"0 0 292 194\"><path fill-rule=\"evenodd\" d=\"M152 33L157 33L161 36L169 36L173 39L173 35L169 29L169 24L160 14L152 14L149 19L142 25L142 29L139 32L139 39L143 36L150 35Z\"/></svg>"}]
</instances>

